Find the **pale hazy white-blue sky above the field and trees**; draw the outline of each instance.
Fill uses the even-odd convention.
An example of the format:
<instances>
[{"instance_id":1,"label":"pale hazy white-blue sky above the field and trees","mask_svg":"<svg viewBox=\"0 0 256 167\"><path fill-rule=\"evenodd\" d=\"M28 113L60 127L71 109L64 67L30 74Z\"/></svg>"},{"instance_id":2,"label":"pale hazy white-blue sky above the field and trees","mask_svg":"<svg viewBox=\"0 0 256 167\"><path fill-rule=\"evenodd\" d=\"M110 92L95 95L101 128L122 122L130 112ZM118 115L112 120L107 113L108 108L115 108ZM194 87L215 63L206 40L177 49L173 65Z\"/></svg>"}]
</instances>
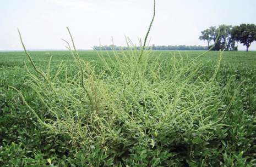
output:
<instances>
[{"instance_id":1,"label":"pale hazy white-blue sky above the field and trees","mask_svg":"<svg viewBox=\"0 0 256 167\"><path fill-rule=\"evenodd\" d=\"M77 49L144 42L153 0L0 0L0 50ZM208 45L198 38L210 26L256 24L255 0L156 0L149 45ZM149 42L149 41L147 41ZM238 50L246 46L238 44ZM253 42L249 50L256 50Z\"/></svg>"}]
</instances>

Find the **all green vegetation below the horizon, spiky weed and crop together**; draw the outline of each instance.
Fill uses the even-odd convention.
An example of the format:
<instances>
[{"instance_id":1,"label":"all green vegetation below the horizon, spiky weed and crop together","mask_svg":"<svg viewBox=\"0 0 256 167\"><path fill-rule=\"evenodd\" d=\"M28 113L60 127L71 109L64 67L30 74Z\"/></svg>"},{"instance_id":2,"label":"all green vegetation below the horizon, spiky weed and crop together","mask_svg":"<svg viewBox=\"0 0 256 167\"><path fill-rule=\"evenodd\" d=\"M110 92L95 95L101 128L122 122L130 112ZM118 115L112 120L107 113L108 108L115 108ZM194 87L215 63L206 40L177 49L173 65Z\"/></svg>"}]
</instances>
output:
<instances>
[{"instance_id":1,"label":"all green vegetation below the horizon, spiky weed and crop together","mask_svg":"<svg viewBox=\"0 0 256 167\"><path fill-rule=\"evenodd\" d=\"M67 65L22 40L30 64L1 62L0 165L255 166L254 53L221 64L223 51L160 55L146 38L78 52L70 37Z\"/></svg>"}]
</instances>

